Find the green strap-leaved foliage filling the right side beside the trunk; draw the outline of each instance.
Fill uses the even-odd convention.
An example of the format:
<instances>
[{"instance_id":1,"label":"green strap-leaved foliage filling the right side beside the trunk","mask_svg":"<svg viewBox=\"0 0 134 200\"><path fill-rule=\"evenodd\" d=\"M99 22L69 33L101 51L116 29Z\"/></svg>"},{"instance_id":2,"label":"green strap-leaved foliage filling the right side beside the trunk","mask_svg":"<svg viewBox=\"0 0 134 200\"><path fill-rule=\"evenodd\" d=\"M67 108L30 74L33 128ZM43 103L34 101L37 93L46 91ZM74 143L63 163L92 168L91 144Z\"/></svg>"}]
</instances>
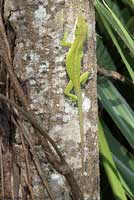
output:
<instances>
[{"instance_id":1,"label":"green strap-leaved foliage filling the right side beside the trunk","mask_svg":"<svg viewBox=\"0 0 134 200\"><path fill-rule=\"evenodd\" d=\"M94 4L98 66L134 80L134 1L95 0ZM98 77L100 155L114 199L118 200L134 199L133 92L133 84ZM104 191L105 186L101 187L105 200L108 188Z\"/></svg>"}]
</instances>

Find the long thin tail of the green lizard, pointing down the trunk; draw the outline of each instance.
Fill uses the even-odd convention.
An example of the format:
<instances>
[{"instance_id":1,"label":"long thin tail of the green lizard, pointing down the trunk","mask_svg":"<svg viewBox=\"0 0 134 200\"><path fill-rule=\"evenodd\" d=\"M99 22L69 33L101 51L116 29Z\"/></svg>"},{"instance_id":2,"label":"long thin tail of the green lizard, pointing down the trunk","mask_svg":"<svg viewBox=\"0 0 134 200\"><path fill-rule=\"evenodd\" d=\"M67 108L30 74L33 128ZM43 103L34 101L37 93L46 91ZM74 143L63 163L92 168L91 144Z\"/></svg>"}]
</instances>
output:
<instances>
[{"instance_id":1,"label":"long thin tail of the green lizard, pointing down the trunk","mask_svg":"<svg viewBox=\"0 0 134 200\"><path fill-rule=\"evenodd\" d=\"M83 128L83 110L82 110L82 94L81 91L77 93L78 115L80 125L80 138L81 138L81 165L82 174L84 173L84 128Z\"/></svg>"}]
</instances>

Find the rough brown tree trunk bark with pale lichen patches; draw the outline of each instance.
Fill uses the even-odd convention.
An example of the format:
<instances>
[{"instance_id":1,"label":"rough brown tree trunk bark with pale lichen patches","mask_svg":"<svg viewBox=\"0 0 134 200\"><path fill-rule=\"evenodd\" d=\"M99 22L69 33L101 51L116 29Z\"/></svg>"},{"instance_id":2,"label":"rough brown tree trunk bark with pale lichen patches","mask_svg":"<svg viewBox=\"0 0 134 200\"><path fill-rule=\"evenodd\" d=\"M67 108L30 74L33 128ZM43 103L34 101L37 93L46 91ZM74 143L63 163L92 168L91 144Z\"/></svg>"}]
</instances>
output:
<instances>
[{"instance_id":1,"label":"rough brown tree trunk bark with pale lichen patches","mask_svg":"<svg viewBox=\"0 0 134 200\"><path fill-rule=\"evenodd\" d=\"M81 177L80 135L77 106L63 94L67 84L64 58L67 49L60 45L64 31L72 32L79 10L83 10L89 24L87 47L83 59L83 69L92 74L83 92L85 131L85 176ZM14 66L16 74L27 79L28 97L31 108L37 115L44 130L55 140L65 156L81 188L85 200L99 199L99 158L97 140L97 97L96 97L96 57L95 57L95 16L92 1L80 0L5 0L4 17L8 18L16 32ZM30 128L27 127L29 130ZM31 130L32 132L32 130ZM46 172L54 198L71 199L65 178L47 162L40 148L38 155L42 169ZM18 139L19 140L19 139ZM18 141L19 144L19 141ZM16 145L22 182L25 177L22 146ZM31 164L31 180L35 199L49 199ZM20 173L20 172L18 172ZM67 177L66 177L67 178ZM68 177L69 178L69 177ZM26 180L24 181L24 183ZM23 187L23 197L25 196Z\"/></svg>"}]
</instances>

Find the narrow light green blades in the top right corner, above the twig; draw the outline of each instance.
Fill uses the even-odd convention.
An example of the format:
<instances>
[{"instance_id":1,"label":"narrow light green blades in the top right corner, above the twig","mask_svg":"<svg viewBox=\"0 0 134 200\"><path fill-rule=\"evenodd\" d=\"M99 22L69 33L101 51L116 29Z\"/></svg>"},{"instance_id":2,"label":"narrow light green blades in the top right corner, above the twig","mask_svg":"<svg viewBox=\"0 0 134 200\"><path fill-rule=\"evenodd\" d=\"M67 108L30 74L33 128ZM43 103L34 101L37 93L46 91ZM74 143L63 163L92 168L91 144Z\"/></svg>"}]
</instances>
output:
<instances>
[{"instance_id":1,"label":"narrow light green blades in the top right corner, above the twig","mask_svg":"<svg viewBox=\"0 0 134 200\"><path fill-rule=\"evenodd\" d=\"M120 54L124 64L126 65L127 70L132 80L134 80L134 71L129 65L129 61L125 57L123 53L123 49L121 49L120 47L120 44L119 44L120 40L118 41L118 39L115 37L115 31L119 35L120 39L122 39L122 41L124 42L124 45L130 51L130 54L132 54L132 57L134 57L134 41L131 38L132 36L130 36L125 26L122 24L121 20L117 18L117 16L110 9L110 7L107 6L106 3L102 4L100 3L100 1L95 0L95 7L100 16L100 19L102 20L104 27L106 28L109 36L111 37L114 45L116 46L118 50L118 53ZM116 9L116 11L119 11L119 10Z\"/></svg>"}]
</instances>

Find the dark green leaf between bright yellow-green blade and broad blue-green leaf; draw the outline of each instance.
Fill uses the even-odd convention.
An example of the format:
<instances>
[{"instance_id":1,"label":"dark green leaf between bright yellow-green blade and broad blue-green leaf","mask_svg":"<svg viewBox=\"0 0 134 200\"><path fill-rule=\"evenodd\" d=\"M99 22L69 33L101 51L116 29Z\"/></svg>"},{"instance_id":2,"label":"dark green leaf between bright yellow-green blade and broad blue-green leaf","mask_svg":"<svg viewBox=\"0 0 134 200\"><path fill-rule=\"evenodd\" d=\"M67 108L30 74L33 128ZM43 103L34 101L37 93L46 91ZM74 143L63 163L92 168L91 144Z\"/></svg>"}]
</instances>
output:
<instances>
[{"instance_id":1,"label":"dark green leaf between bright yellow-green blade and broad blue-green leaf","mask_svg":"<svg viewBox=\"0 0 134 200\"><path fill-rule=\"evenodd\" d=\"M112 135L104 121L101 121L113 160L120 173L121 183L129 195L134 199L134 157Z\"/></svg>"}]
</instances>

